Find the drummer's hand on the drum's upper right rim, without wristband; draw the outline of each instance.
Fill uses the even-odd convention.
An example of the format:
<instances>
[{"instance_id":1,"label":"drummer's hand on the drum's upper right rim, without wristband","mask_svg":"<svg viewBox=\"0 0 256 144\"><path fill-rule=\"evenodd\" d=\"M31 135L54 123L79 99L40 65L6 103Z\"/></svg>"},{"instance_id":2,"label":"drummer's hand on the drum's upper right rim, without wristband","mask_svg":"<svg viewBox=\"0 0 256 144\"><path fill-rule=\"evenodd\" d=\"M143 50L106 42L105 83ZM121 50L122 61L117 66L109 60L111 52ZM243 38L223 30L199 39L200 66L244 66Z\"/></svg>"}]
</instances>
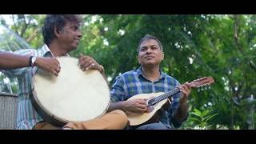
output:
<instances>
[{"instance_id":1,"label":"drummer's hand on the drum's upper right rim, without wristband","mask_svg":"<svg viewBox=\"0 0 256 144\"><path fill-rule=\"evenodd\" d=\"M94 58L91 58L90 56L80 54L78 62L80 69L83 71L91 69L102 71L102 66L99 65L98 62L96 62Z\"/></svg>"}]
</instances>

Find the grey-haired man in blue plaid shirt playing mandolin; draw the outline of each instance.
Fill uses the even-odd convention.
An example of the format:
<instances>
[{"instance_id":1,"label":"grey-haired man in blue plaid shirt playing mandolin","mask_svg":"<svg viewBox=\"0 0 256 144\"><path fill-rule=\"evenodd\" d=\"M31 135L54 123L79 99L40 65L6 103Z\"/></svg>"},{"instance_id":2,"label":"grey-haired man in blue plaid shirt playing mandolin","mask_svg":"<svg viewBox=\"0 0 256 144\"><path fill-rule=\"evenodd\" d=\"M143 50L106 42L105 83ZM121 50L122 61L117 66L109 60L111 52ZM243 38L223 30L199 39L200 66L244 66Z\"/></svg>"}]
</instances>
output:
<instances>
[{"instance_id":1,"label":"grey-haired man in blue plaid shirt playing mandolin","mask_svg":"<svg viewBox=\"0 0 256 144\"><path fill-rule=\"evenodd\" d=\"M131 70L118 76L112 86L109 110L124 110L128 118L152 111L152 106L148 106L149 102L146 100L146 98L152 97L150 93L168 92L175 87L181 91L181 93L174 94L173 102L161 113L158 120L131 125L130 129L168 130L177 128L186 121L187 102L191 87L187 82L180 85L175 78L160 70L159 66L163 58L162 43L157 38L146 34L138 44L138 62L141 66L137 70ZM148 94L149 96L129 99L137 94Z\"/></svg>"}]
</instances>

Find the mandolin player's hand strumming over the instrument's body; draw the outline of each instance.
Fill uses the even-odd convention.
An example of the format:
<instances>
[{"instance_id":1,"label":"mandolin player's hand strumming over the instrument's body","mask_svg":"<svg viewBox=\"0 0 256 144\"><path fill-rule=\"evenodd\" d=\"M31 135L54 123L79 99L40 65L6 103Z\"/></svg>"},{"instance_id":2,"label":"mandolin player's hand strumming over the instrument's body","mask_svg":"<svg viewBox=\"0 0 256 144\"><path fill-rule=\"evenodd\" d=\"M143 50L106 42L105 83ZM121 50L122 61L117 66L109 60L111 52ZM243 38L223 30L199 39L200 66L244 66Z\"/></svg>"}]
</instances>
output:
<instances>
[{"instance_id":1,"label":"mandolin player's hand strumming over the instrument's body","mask_svg":"<svg viewBox=\"0 0 256 144\"><path fill-rule=\"evenodd\" d=\"M126 114L143 114L147 111L146 100L145 99L132 99L125 101L122 109Z\"/></svg>"}]
</instances>

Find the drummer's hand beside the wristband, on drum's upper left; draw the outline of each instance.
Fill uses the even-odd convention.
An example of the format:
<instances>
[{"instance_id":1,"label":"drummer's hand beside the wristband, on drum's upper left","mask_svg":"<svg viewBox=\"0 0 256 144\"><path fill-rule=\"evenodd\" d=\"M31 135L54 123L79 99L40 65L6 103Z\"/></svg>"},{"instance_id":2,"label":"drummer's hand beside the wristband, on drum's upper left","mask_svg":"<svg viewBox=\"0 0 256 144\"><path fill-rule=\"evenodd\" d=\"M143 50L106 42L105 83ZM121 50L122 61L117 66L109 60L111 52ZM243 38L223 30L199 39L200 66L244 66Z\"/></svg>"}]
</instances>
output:
<instances>
[{"instance_id":1,"label":"drummer's hand beside the wristband, on drum's upper left","mask_svg":"<svg viewBox=\"0 0 256 144\"><path fill-rule=\"evenodd\" d=\"M58 73L61 71L61 66L57 60L57 58L42 58L37 57L34 62L34 66L38 66L42 70L46 70L54 76L58 77Z\"/></svg>"}]
</instances>

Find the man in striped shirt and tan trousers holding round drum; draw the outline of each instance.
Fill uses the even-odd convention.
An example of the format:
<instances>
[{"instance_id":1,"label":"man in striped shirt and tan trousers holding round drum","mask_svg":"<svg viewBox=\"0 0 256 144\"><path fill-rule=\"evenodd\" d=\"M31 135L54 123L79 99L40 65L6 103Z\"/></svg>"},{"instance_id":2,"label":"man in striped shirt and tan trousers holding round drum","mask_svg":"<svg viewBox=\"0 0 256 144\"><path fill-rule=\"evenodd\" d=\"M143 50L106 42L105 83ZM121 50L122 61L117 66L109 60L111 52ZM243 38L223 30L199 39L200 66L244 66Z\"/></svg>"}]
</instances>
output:
<instances>
[{"instance_id":1,"label":"man in striped shirt and tan trousers holding round drum","mask_svg":"<svg viewBox=\"0 0 256 144\"><path fill-rule=\"evenodd\" d=\"M39 115L32 106L33 78L38 68L58 78L58 74L62 70L57 57L68 56L70 51L77 48L78 42L82 38L82 34L78 29L80 22L81 19L78 15L47 15L42 27L45 45L41 49L26 49L18 50L14 54L7 52L0 54L0 59L6 60L5 64L0 68L8 69L2 70L2 72L8 76L18 78L17 129L114 130L126 127L128 120L122 110L113 110L103 114L101 117L85 122L70 121L65 126L55 126L50 122L46 122L42 115ZM104 73L103 66L99 65L94 58L81 55L78 62L82 70L99 70L102 74Z\"/></svg>"}]
</instances>

